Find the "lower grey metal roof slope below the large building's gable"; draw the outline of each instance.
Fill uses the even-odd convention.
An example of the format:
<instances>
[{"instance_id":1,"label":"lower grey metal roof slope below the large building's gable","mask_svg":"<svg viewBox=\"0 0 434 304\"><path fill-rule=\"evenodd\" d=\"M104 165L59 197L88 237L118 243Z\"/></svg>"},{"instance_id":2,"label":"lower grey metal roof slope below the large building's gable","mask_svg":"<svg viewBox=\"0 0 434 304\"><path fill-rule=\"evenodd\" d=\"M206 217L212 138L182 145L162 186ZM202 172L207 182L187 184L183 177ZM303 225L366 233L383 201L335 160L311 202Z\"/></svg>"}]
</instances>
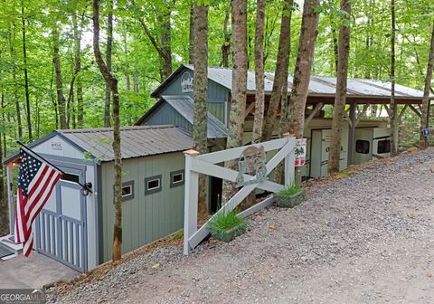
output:
<instances>
[{"instance_id":1,"label":"lower grey metal roof slope below the large building's gable","mask_svg":"<svg viewBox=\"0 0 434 304\"><path fill-rule=\"evenodd\" d=\"M184 119L187 119L193 126L193 99L190 96L162 96ZM208 138L227 138L228 128L217 119L212 113L208 112Z\"/></svg>"}]
</instances>

